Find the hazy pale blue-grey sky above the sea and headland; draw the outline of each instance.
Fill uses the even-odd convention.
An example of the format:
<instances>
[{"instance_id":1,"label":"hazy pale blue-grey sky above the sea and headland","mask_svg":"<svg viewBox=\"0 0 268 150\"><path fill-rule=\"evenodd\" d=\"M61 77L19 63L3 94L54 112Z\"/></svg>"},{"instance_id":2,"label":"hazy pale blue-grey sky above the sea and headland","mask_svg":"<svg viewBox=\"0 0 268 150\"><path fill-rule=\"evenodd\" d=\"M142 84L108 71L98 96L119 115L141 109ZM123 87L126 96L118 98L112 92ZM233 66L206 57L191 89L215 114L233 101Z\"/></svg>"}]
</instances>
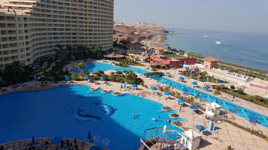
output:
<instances>
[{"instance_id":1,"label":"hazy pale blue-grey sky above the sea and headland","mask_svg":"<svg viewBox=\"0 0 268 150\"><path fill-rule=\"evenodd\" d=\"M267 0L114 0L114 21L268 33Z\"/></svg>"}]
</instances>

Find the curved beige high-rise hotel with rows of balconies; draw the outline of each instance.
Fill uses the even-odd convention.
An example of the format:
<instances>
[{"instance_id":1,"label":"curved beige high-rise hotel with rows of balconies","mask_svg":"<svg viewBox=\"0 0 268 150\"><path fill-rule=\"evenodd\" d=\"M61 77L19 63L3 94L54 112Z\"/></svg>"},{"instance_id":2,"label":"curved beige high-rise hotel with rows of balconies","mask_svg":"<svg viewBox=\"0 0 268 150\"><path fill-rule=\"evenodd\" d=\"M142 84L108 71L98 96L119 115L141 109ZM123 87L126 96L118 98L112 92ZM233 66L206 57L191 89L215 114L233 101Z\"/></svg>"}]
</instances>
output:
<instances>
[{"instance_id":1,"label":"curved beige high-rise hotel with rows of balconies","mask_svg":"<svg viewBox=\"0 0 268 150\"><path fill-rule=\"evenodd\" d=\"M113 0L0 0L0 69L53 57L57 44L113 46Z\"/></svg>"}]
</instances>

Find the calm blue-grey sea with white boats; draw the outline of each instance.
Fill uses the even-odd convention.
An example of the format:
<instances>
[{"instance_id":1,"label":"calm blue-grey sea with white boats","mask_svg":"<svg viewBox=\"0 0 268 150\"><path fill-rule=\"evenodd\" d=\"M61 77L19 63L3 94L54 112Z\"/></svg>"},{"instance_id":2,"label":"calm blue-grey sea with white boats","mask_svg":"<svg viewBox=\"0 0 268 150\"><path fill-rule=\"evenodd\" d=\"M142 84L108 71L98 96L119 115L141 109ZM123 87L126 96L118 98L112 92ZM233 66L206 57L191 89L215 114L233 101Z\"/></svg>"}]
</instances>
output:
<instances>
[{"instance_id":1,"label":"calm blue-grey sea with white boats","mask_svg":"<svg viewBox=\"0 0 268 150\"><path fill-rule=\"evenodd\" d=\"M167 40L163 41L172 49L199 52L203 57L211 56L222 62L268 71L268 34L193 29L167 30L177 33L177 35L165 35ZM222 44L215 44L216 41Z\"/></svg>"}]
</instances>

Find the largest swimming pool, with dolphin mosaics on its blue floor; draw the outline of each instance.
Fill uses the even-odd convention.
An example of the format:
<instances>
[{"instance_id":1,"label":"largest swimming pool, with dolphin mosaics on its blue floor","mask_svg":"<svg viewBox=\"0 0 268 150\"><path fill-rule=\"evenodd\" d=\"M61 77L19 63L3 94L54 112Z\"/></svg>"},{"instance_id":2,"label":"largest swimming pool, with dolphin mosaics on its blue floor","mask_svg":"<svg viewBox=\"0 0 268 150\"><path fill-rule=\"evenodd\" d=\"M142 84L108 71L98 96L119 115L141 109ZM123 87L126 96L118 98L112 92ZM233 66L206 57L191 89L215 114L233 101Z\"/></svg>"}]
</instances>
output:
<instances>
[{"instance_id":1,"label":"largest swimming pool, with dolphin mosaics on its blue floor","mask_svg":"<svg viewBox=\"0 0 268 150\"><path fill-rule=\"evenodd\" d=\"M92 137L109 139L109 149L135 149L144 129L163 127L166 119L185 121L169 117L176 110L159 112L163 105L158 102L133 94L114 96L112 92L89 89L85 85L67 85L0 95L0 143L32 136L88 141L91 131ZM167 127L183 131L171 123Z\"/></svg>"}]
</instances>

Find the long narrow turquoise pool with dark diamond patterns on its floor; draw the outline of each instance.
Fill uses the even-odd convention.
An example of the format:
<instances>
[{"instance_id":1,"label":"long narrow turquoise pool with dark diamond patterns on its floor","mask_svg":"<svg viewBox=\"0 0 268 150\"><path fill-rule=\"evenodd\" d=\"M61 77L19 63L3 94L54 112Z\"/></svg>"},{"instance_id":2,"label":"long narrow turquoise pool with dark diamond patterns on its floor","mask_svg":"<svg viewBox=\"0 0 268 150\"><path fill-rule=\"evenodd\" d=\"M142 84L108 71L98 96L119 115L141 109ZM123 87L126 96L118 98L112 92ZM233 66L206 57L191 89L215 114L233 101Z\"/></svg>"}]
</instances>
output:
<instances>
[{"instance_id":1,"label":"long narrow turquoise pool with dark diamond patterns on its floor","mask_svg":"<svg viewBox=\"0 0 268 150\"><path fill-rule=\"evenodd\" d=\"M247 118L248 115L253 114L255 116L255 119L251 119L251 121L254 121L255 123L268 127L268 116L263 115L259 112L253 111L251 109L245 108L243 106L237 105L233 102L224 100L217 96L213 96L211 94L203 92L202 88L200 88L201 90L198 90L196 88L192 88L190 86L181 84L179 82L176 82L176 81L170 80L169 78L165 78L161 76L151 76L151 78L159 82L162 82L166 85L172 85L173 88L178 89L178 90L181 90L182 88L185 87L188 89L187 93L192 96L196 96L197 93L199 92L199 97L201 97L202 100L207 101L209 103L217 102L219 105L222 106L223 109L228 110L229 112L235 113L241 117Z\"/></svg>"}]
</instances>

